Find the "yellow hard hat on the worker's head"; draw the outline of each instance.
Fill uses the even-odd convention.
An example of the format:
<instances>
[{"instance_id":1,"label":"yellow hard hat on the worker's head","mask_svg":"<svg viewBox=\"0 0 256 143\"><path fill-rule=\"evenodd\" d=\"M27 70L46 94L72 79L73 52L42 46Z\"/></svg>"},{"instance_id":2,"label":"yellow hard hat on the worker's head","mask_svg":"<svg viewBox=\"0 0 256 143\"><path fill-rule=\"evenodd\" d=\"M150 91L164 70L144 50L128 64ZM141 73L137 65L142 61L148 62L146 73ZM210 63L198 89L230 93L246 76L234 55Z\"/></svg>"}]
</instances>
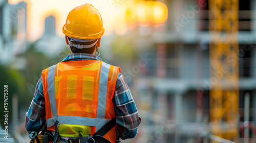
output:
<instances>
[{"instance_id":1,"label":"yellow hard hat on the worker's head","mask_svg":"<svg viewBox=\"0 0 256 143\"><path fill-rule=\"evenodd\" d=\"M104 34L99 11L91 4L75 7L69 12L62 32L78 39L97 39Z\"/></svg>"}]
</instances>

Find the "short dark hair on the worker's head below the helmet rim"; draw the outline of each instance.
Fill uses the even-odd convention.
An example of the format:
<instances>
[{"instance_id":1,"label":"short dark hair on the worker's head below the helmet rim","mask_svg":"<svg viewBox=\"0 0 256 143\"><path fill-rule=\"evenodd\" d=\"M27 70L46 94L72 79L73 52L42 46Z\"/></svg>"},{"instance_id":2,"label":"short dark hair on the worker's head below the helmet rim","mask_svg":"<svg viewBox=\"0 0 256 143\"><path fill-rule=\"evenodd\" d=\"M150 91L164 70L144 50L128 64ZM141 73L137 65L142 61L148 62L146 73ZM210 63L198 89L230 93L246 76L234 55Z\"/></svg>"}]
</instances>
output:
<instances>
[{"instance_id":1,"label":"short dark hair on the worker's head below the helmet rim","mask_svg":"<svg viewBox=\"0 0 256 143\"><path fill-rule=\"evenodd\" d=\"M69 37L68 37L69 38ZM69 38L69 40L71 40ZM95 42L95 41L93 41ZM93 43L92 42L92 43ZM90 42L87 43L83 43L83 42L77 42L77 41L72 41L73 44L82 44L82 45L88 45L88 44L92 44ZM87 53L87 54L93 54L94 50L96 48L96 44L90 48L83 48L83 49L77 49L75 46L70 46L70 50L72 51L72 53Z\"/></svg>"}]
</instances>

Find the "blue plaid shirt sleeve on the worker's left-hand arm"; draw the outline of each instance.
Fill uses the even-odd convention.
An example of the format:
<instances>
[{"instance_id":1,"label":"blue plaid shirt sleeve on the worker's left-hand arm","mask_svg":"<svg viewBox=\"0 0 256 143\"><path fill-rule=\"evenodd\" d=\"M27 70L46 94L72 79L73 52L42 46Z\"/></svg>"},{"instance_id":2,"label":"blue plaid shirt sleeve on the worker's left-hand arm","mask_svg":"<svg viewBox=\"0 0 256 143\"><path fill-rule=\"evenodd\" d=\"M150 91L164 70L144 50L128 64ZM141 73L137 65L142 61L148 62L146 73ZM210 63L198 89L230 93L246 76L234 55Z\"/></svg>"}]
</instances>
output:
<instances>
[{"instance_id":1,"label":"blue plaid shirt sleeve on the worker's left-hand arm","mask_svg":"<svg viewBox=\"0 0 256 143\"><path fill-rule=\"evenodd\" d=\"M36 88L34 98L30 104L29 111L26 113L25 128L28 133L37 131L46 125L45 97L42 88L42 77L40 77Z\"/></svg>"}]
</instances>

